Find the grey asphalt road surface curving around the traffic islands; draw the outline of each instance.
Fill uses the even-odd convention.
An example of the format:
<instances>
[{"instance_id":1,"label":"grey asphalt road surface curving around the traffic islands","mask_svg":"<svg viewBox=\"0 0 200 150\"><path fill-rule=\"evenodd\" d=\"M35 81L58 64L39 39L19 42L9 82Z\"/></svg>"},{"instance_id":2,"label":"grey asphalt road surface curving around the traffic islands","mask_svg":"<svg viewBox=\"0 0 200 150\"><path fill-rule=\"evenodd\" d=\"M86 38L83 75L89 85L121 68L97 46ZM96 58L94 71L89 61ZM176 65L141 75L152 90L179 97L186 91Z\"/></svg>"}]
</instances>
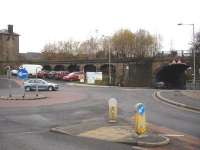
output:
<instances>
[{"instance_id":1,"label":"grey asphalt road surface curving around the traffic islands","mask_svg":"<svg viewBox=\"0 0 200 150\"><path fill-rule=\"evenodd\" d=\"M13 90L15 93L21 91L19 88ZM7 90L2 89L0 95L5 95L6 92ZM152 97L153 89L78 87L63 84L59 92L75 94L78 98L74 101L66 100L60 104L49 105L46 103L37 107L18 105L11 108L8 107L9 104L2 105L0 150L130 150L131 146L128 145L49 132L49 129L55 126L87 122L92 118L105 118L107 102L111 97L118 100L119 117L130 119L134 105L142 102L145 104L149 123L200 137L200 114L156 101ZM55 92L55 95L56 93L58 92ZM54 100L57 101L56 98Z\"/></svg>"}]
</instances>

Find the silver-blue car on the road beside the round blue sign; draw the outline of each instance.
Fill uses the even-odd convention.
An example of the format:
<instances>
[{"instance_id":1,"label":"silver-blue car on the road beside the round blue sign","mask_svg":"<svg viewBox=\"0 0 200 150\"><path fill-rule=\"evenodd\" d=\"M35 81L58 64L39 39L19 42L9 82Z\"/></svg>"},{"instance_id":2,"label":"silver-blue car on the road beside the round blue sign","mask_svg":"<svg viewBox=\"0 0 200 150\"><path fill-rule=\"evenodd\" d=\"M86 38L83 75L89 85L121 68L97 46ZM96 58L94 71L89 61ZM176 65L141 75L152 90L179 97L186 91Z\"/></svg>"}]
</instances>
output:
<instances>
[{"instance_id":1,"label":"silver-blue car on the road beside the round blue sign","mask_svg":"<svg viewBox=\"0 0 200 150\"><path fill-rule=\"evenodd\" d=\"M58 90L59 85L55 83L51 83L42 79L29 79L24 82L25 91L36 90L38 86L38 90L48 90L55 91Z\"/></svg>"}]
</instances>

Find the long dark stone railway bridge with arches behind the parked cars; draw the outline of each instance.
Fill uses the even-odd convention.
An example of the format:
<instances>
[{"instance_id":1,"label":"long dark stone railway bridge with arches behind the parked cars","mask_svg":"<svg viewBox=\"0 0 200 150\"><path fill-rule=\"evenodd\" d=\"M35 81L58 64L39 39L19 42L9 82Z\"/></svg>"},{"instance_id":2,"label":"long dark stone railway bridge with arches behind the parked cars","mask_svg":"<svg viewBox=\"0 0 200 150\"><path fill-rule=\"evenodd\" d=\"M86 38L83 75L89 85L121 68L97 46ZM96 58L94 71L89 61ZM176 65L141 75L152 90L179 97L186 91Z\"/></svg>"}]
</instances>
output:
<instances>
[{"instance_id":1,"label":"long dark stone railway bridge with arches behind the parked cars","mask_svg":"<svg viewBox=\"0 0 200 150\"><path fill-rule=\"evenodd\" d=\"M182 63L187 66L192 65L192 57L180 57ZM152 83L157 78L157 73L162 66L172 63L172 57L156 57L156 58L126 58L126 59L111 59L111 75L112 84L126 86L152 86ZM67 70L84 71L84 72L103 72L103 80L108 83L109 63L108 59L75 59L75 60L50 60L50 61L17 61L17 62L0 62L1 68L10 65L12 68L17 68L21 64L40 64L45 70ZM186 68L188 68L186 67ZM200 68L200 63L196 65ZM177 69L176 69L177 70ZM169 71L168 71L169 72ZM167 73L168 73L167 72ZM170 71L173 74L173 70ZM183 71L179 74L182 74ZM165 74L165 76L167 76ZM173 75L172 75L173 76ZM177 76L178 77L178 76ZM198 75L199 78L199 75Z\"/></svg>"}]
</instances>

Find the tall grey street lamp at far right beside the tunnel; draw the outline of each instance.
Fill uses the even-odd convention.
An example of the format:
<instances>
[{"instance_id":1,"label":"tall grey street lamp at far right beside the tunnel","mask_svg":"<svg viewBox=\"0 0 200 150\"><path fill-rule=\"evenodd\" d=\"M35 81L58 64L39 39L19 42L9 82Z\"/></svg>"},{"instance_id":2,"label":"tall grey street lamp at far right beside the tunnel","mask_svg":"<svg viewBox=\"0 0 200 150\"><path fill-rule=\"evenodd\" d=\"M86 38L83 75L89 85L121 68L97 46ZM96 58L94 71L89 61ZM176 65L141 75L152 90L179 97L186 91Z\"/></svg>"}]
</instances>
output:
<instances>
[{"instance_id":1,"label":"tall grey street lamp at far right beside the tunnel","mask_svg":"<svg viewBox=\"0 0 200 150\"><path fill-rule=\"evenodd\" d=\"M192 40L192 43L194 44L194 42L195 42L195 34L194 34L194 24L183 24L183 23L179 23L178 24L179 26L181 26L181 25L189 25L189 26L192 26L192 31L193 31L193 40ZM196 61L195 61L195 48L193 48L192 49L192 51L193 51L193 74L194 74L194 78L193 78L193 84L194 84L194 87L196 87L196 70L195 70L195 68L196 68Z\"/></svg>"}]
</instances>

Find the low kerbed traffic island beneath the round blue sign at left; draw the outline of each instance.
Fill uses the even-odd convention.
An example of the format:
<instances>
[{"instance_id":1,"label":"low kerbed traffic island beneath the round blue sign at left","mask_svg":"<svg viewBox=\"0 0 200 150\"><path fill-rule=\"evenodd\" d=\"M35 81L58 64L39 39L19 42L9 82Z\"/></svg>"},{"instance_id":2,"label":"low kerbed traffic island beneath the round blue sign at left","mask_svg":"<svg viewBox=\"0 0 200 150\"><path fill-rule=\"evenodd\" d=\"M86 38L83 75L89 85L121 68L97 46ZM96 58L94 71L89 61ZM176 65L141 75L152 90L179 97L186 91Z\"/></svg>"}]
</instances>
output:
<instances>
[{"instance_id":1,"label":"low kerbed traffic island beneath the round blue sign at left","mask_svg":"<svg viewBox=\"0 0 200 150\"><path fill-rule=\"evenodd\" d=\"M15 95L15 96L1 96L0 100L41 100L46 99L47 96L44 95Z\"/></svg>"}]
</instances>

